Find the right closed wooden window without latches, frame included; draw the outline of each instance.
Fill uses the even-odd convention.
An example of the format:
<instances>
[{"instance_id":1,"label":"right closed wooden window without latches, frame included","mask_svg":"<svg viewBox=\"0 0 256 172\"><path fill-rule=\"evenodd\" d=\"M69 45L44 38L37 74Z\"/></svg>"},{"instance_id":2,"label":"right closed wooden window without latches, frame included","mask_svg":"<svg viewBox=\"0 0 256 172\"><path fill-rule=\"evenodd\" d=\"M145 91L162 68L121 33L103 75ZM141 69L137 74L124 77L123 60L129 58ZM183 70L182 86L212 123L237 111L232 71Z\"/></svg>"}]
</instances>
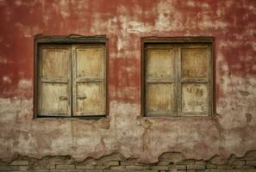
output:
<instances>
[{"instance_id":1,"label":"right closed wooden window without latches, frame included","mask_svg":"<svg viewBox=\"0 0 256 172\"><path fill-rule=\"evenodd\" d=\"M212 46L212 38L143 39L143 114L211 115Z\"/></svg>"}]
</instances>

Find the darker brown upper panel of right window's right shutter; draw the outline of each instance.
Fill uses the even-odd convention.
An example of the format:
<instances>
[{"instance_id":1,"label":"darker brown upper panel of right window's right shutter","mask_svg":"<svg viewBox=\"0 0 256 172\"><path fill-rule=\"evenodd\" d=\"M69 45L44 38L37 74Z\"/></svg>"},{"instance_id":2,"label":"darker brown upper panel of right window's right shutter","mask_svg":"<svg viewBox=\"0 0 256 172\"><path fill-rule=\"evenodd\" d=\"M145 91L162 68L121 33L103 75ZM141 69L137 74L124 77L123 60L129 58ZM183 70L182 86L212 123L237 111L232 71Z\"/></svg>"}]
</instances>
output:
<instances>
[{"instance_id":1,"label":"darker brown upper panel of right window's right shutter","mask_svg":"<svg viewBox=\"0 0 256 172\"><path fill-rule=\"evenodd\" d=\"M208 48L181 49L181 75L183 78L208 78Z\"/></svg>"}]
</instances>

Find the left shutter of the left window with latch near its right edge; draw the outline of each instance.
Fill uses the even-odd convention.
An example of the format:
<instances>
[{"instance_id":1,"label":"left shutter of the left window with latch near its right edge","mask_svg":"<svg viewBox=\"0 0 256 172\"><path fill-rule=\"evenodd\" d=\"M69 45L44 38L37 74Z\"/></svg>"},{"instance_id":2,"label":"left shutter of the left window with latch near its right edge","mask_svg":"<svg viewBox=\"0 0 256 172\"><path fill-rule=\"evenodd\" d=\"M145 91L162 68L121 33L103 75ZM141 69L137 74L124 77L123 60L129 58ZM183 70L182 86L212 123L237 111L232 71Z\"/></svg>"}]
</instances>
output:
<instances>
[{"instance_id":1,"label":"left shutter of the left window with latch near its right edge","mask_svg":"<svg viewBox=\"0 0 256 172\"><path fill-rule=\"evenodd\" d=\"M38 115L71 116L71 60L70 46L40 46Z\"/></svg>"}]
</instances>

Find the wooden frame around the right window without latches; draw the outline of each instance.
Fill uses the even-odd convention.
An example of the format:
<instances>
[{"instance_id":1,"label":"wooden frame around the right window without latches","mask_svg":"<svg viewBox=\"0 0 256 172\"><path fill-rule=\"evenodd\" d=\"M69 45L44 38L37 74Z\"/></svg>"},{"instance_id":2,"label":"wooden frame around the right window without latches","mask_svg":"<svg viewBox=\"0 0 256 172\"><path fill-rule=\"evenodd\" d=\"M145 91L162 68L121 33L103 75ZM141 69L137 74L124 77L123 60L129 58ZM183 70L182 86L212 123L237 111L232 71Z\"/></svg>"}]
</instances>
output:
<instances>
[{"instance_id":1,"label":"wooden frame around the right window without latches","mask_svg":"<svg viewBox=\"0 0 256 172\"><path fill-rule=\"evenodd\" d=\"M177 102L177 115L170 115L170 114L147 114L147 96L146 96L146 89L147 89L147 82L146 82L146 46L147 44L170 44L170 45L187 45L187 44L207 44L209 45L209 83L208 83L208 91L209 91L209 111L208 114L202 115L201 113L193 113L190 115L181 115L181 102ZM140 113L143 117L168 117L168 118L186 118L186 117L213 117L215 115L215 38L214 37L142 37L140 40L140 47L141 47L141 54L140 54L140 69L141 69L141 91L140 91ZM178 57L178 62L175 63L175 66L178 65L181 67L181 57ZM176 66L177 69L177 66ZM177 101L181 101L181 69L178 69L178 82L176 86L176 90L178 92L176 99ZM198 81L199 83L201 81ZM175 96L175 95L174 95ZM200 115L201 114L201 115Z\"/></svg>"}]
</instances>

